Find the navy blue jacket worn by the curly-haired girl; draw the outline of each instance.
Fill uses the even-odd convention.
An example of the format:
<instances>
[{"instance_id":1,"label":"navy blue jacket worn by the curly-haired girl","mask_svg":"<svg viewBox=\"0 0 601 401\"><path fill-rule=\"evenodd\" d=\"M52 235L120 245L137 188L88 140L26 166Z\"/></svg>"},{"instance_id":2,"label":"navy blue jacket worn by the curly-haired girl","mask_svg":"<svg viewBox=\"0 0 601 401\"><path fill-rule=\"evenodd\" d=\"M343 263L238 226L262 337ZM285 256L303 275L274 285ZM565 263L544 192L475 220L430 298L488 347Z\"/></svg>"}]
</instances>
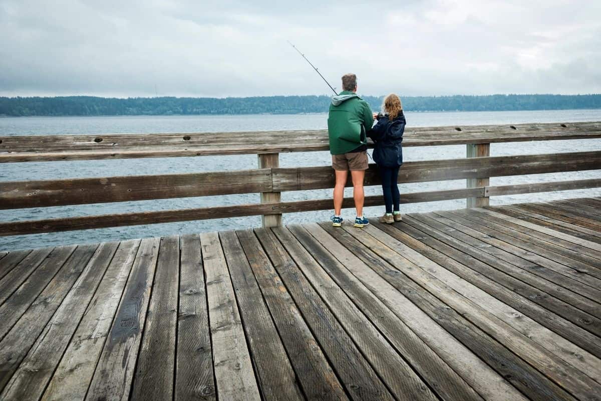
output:
<instances>
[{"instance_id":1,"label":"navy blue jacket worn by the curly-haired girl","mask_svg":"<svg viewBox=\"0 0 601 401\"><path fill-rule=\"evenodd\" d=\"M373 158L379 167L398 167L403 165L403 132L405 131L405 116L403 112L390 121L388 114L380 117L367 132L375 142Z\"/></svg>"}]
</instances>

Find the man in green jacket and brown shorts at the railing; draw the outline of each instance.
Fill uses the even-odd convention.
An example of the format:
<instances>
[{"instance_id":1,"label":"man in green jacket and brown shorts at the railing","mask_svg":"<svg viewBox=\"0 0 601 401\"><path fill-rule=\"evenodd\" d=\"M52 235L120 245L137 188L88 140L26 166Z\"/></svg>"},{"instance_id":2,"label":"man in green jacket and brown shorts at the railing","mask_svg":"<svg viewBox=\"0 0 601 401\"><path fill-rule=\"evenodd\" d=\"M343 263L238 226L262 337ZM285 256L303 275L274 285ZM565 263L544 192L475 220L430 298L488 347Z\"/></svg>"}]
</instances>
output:
<instances>
[{"instance_id":1,"label":"man in green jacket and brown shorts at the railing","mask_svg":"<svg viewBox=\"0 0 601 401\"><path fill-rule=\"evenodd\" d=\"M332 97L328 115L328 135L332 168L336 174L334 186L334 216L332 225L340 227L340 215L344 198L344 185L350 170L353 181L353 199L357 216L355 227L370 224L363 216L363 179L367 170L367 131L373 125L374 117L370 105L357 94L357 76L346 74L342 77L343 91Z\"/></svg>"}]
</instances>

